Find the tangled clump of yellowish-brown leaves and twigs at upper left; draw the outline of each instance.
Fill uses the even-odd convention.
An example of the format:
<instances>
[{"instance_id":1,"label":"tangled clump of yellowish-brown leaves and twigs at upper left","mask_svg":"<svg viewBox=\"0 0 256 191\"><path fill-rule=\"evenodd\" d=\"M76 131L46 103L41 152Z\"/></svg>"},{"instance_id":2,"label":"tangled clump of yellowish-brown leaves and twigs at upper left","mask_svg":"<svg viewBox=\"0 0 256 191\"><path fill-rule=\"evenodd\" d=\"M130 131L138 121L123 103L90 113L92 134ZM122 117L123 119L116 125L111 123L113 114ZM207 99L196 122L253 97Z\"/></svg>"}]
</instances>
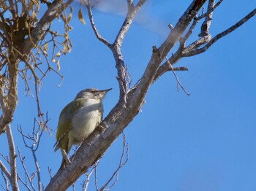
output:
<instances>
[{"instance_id":1,"label":"tangled clump of yellowish-brown leaves and twigs at upper left","mask_svg":"<svg viewBox=\"0 0 256 191\"><path fill-rule=\"evenodd\" d=\"M48 23L42 28L43 34L38 40L32 34L39 22L42 22L39 9L48 8L51 4L53 3L43 0L0 1L0 133L5 130L4 125L11 121L18 103L18 77L25 83L26 94L36 95L39 121L42 128L47 128L43 119L44 112L40 109L39 88L42 86L42 79L50 71L63 79L59 73L60 58L72 49L69 39L72 7L67 12L65 8L68 4L63 1L59 9L64 11L55 16L59 23L64 23L63 31L53 30L52 23ZM32 44L31 48L27 47L28 42Z\"/></svg>"}]
</instances>

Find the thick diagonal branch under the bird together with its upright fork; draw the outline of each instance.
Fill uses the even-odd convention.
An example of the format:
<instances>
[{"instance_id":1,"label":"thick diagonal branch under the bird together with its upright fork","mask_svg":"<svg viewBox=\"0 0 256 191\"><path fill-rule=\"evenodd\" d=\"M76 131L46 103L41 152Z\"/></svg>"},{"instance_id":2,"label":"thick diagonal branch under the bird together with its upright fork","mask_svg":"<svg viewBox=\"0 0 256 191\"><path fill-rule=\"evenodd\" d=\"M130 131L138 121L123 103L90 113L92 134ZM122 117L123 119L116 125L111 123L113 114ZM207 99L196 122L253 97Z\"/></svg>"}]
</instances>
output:
<instances>
[{"instance_id":1,"label":"thick diagonal branch under the bird together with its upright fork","mask_svg":"<svg viewBox=\"0 0 256 191\"><path fill-rule=\"evenodd\" d=\"M120 98L116 106L101 124L105 129L102 131L97 129L94 130L91 136L83 141L83 144L79 147L75 157L72 157L72 163L70 163L67 168L61 169L61 171L53 176L53 179L50 180L50 183L45 190L66 190L73 182L75 182L76 179L78 179L80 175L84 174L86 170L99 159L99 157L104 155L105 151L110 147L113 141L117 139L124 128L129 125L129 122L131 122L138 114L141 106L145 103L144 99L146 97L146 93L155 80L157 80L157 78L166 71L174 71L175 69L178 69L174 68L173 64L185 56L185 43L183 45L181 44L181 46L178 47L178 51L173 53L173 55L170 55L170 57L167 57L167 54L173 50L173 47L177 42L180 42L181 36L184 32L189 30L190 23L192 23L195 17L197 17L198 12L203 7L206 0L192 1L192 4L189 5L187 10L178 20L176 26L171 29L165 42L163 42L159 48L155 46L153 47L151 59L148 61L148 65L146 66L143 76L135 87L132 87L131 90L127 91L127 83L125 82L126 73L124 71L125 65L121 54L121 43L127 33L126 30L129 29L131 24L129 23L129 18L134 18L132 12L135 11L137 6L139 7L140 4L142 5L143 2L145 1L139 1L137 5L133 5L132 0L127 0L129 10L123 26L121 26L121 30L124 31L119 31L115 42L110 45L114 58L116 59ZM212 7L211 4L211 8L208 9L214 9L214 6ZM209 23L209 20L207 20L207 23ZM209 35L205 35L203 38L206 36ZM197 47L197 45L195 45L195 47ZM168 60L165 63L162 63L165 57L167 57ZM180 69L187 68L180 67Z\"/></svg>"}]
</instances>

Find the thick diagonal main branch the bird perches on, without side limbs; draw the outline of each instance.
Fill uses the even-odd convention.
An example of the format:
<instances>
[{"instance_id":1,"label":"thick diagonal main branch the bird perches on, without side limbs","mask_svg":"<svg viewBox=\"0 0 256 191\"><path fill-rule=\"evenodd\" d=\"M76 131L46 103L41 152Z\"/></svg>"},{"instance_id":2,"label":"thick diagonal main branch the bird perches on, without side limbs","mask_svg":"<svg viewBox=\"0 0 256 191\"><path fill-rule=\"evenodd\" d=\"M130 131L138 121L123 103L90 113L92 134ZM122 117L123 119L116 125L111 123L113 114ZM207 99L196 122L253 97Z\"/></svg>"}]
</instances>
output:
<instances>
[{"instance_id":1,"label":"thick diagonal main branch the bird perches on, without side limbs","mask_svg":"<svg viewBox=\"0 0 256 191\"><path fill-rule=\"evenodd\" d=\"M129 122L133 120L144 103L144 98L146 96L148 87L153 82L157 68L159 67L162 59L165 58L164 55L170 51L170 48L173 47L174 43L178 40L187 26L189 26L189 23L195 17L205 1L206 0L193 1L193 3L189 6L189 9L187 9L187 11L178 21L176 28L173 28L174 32L170 33L167 40L159 49L157 49L157 47L153 48L151 60L148 63L140 83L127 94L128 106L124 108L124 100L118 101L118 104L116 104L110 114L108 114L108 117L106 117L104 122L101 124L106 128L105 131L100 132L99 130L94 130L94 133L92 133L91 136L89 136L89 138L86 139L78 149L75 157L72 158L72 163L67 165L66 168L62 168L53 177L53 179L51 179L48 187L46 187L45 190L67 189L67 187L75 182L75 180L78 179L81 174L83 174L91 165L94 164L95 161L97 161L97 159L99 159L99 157L105 153L113 141L115 141L124 128L127 127Z\"/></svg>"}]
</instances>

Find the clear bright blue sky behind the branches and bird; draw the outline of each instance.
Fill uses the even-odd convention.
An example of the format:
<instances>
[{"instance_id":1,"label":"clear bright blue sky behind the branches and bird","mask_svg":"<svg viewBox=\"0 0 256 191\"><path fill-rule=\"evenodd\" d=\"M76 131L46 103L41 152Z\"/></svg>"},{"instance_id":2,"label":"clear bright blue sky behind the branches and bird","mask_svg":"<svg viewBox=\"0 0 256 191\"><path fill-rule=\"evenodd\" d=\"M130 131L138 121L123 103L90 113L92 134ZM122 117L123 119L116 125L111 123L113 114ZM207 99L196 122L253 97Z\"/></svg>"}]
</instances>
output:
<instances>
[{"instance_id":1,"label":"clear bright blue sky behind the branches and bird","mask_svg":"<svg viewBox=\"0 0 256 191\"><path fill-rule=\"evenodd\" d=\"M120 0L121 1L121 0ZM130 28L122 52L132 82L140 79L151 56L151 47L159 46L167 34L167 24L176 24L190 1L148 1L138 20ZM255 1L224 1L214 12L211 35L227 29L255 9ZM105 116L118 101L118 82L111 52L95 39L88 17L80 24L72 18L72 52L61 58L64 82L50 74L40 91L42 110L48 111L50 128L56 129L61 109L87 87L112 87L105 98ZM83 9L86 15L86 9ZM123 17L94 10L95 23L102 36L113 41ZM232 34L220 39L207 52L184 58L177 66L189 71L177 72L191 93L177 92L172 73L164 74L146 95L146 104L125 133L129 143L129 161L121 168L113 190L256 190L256 86L255 22L253 17ZM56 22L58 29L59 22ZM192 36L196 38L199 31ZM29 132L37 110L35 98L23 95L20 81L19 104L12 122L16 145L27 155L28 169L34 168L29 149L23 148L16 125ZM0 136L7 155L5 135ZM42 182L49 181L59 169L61 153L53 152L55 133L44 134L37 152ZM122 140L119 138L102 158L98 182L103 184L118 165ZM80 180L83 180L81 178ZM2 179L0 179L2 182ZM80 183L76 184L80 190ZM94 190L91 182L90 190Z\"/></svg>"}]
</instances>

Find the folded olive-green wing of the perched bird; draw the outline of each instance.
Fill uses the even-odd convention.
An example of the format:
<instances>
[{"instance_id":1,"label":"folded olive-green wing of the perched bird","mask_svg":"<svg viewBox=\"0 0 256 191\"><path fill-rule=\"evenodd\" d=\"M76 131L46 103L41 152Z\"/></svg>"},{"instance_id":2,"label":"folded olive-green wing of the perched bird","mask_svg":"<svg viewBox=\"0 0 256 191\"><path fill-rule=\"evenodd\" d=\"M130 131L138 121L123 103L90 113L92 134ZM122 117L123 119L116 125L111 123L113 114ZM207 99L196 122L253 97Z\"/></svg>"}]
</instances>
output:
<instances>
[{"instance_id":1,"label":"folded olive-green wing of the perched bird","mask_svg":"<svg viewBox=\"0 0 256 191\"><path fill-rule=\"evenodd\" d=\"M78 110L83 107L83 101L81 99L75 99L74 101L67 104L67 106L62 109L61 114L59 115L59 124L56 133L56 148L55 150L59 149L66 149L65 145L61 144L61 139L68 139L67 133L69 132L72 122L72 117ZM68 142L68 141L65 141Z\"/></svg>"}]
</instances>

